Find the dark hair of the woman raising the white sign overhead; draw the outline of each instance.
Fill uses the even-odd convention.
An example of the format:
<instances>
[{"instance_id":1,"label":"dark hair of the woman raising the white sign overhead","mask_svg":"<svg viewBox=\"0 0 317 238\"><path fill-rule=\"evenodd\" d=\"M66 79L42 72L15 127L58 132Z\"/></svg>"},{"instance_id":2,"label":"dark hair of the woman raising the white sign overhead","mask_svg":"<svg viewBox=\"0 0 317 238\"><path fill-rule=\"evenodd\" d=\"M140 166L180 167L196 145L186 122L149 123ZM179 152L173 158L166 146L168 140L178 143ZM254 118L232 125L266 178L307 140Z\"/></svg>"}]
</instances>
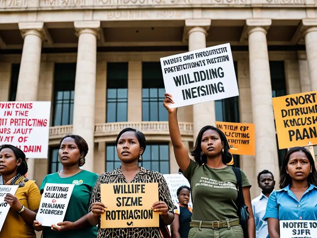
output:
<instances>
[{"instance_id":1,"label":"dark hair of the woman raising the white sign overhead","mask_svg":"<svg viewBox=\"0 0 317 238\"><path fill-rule=\"evenodd\" d=\"M196 143L194 146L193 151L191 151L191 155L195 158L195 161L199 164L202 165L204 163L207 162L207 157L206 155L202 155L202 149L201 149L201 140L203 138L203 134L206 130L215 130L218 132L221 141L223 142L223 153L221 153L222 155L222 162L224 164L229 163L232 160L232 155L229 152L229 143L227 140L227 137L224 135L224 133L219 130L218 128L214 127L214 126L204 126L198 133L198 136L196 138Z\"/></svg>"}]
</instances>

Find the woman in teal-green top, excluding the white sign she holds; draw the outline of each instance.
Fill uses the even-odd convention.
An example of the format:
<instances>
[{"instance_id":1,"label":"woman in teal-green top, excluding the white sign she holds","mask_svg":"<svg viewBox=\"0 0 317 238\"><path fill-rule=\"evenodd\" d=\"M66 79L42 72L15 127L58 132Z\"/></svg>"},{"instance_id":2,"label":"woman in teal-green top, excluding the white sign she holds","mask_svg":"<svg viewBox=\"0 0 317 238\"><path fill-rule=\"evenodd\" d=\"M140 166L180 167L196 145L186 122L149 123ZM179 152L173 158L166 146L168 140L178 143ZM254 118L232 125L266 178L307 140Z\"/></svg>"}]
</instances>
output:
<instances>
[{"instance_id":1,"label":"woman in teal-green top, excluding the white sign she holds","mask_svg":"<svg viewBox=\"0 0 317 238\"><path fill-rule=\"evenodd\" d=\"M43 193L46 183L74 184L64 222L43 227L34 221L36 231L43 231L43 238L93 238L97 237L97 227L80 219L88 212L88 205L94 185L98 179L96 173L83 170L88 153L87 142L77 135L68 135L61 139L58 156L63 169L57 173L46 175L40 192ZM76 222L75 222L76 221Z\"/></svg>"}]
</instances>

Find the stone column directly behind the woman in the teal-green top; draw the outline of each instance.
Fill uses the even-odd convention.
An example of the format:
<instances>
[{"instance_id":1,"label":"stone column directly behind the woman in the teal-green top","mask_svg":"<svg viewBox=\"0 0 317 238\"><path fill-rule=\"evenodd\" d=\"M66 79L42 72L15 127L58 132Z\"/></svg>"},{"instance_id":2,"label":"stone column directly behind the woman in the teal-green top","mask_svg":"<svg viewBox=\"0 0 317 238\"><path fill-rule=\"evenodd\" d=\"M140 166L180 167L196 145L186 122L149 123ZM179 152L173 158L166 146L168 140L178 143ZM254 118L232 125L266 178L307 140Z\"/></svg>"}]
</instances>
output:
<instances>
[{"instance_id":1,"label":"stone column directly behind the woman in the teal-green top","mask_svg":"<svg viewBox=\"0 0 317 238\"><path fill-rule=\"evenodd\" d=\"M94 170L94 130L97 37L100 21L74 22L78 39L73 134L82 136L88 143L84 169Z\"/></svg>"}]
</instances>

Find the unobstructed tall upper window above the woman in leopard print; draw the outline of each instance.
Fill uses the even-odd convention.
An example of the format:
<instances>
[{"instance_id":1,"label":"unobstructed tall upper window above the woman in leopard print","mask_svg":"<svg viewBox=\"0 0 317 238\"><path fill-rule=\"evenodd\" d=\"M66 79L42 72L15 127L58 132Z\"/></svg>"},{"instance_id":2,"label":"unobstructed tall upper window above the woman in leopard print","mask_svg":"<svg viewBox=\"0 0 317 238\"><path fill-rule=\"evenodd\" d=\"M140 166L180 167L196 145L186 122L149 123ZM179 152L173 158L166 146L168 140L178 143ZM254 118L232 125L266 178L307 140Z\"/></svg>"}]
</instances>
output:
<instances>
[{"instance_id":1,"label":"unobstructed tall upper window above the woman in leopard print","mask_svg":"<svg viewBox=\"0 0 317 238\"><path fill-rule=\"evenodd\" d=\"M107 64L107 122L126 122L128 63Z\"/></svg>"}]
</instances>

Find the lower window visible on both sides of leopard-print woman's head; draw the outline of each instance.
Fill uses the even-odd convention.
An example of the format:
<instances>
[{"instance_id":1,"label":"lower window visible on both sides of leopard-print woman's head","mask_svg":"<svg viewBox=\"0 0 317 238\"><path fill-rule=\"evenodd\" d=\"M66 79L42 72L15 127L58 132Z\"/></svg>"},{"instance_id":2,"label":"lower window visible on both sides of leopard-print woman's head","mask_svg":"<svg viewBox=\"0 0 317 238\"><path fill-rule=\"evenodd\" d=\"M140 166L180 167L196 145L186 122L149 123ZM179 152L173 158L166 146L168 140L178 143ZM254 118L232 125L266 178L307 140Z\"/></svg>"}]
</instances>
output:
<instances>
[{"instance_id":1,"label":"lower window visible on both sides of leopard-print woman's head","mask_svg":"<svg viewBox=\"0 0 317 238\"><path fill-rule=\"evenodd\" d=\"M142 156L143 161L140 166L157 171L161 174L170 173L169 145L168 143L147 144ZM120 167L120 160L117 155L115 144L107 144L106 148L106 171L112 171Z\"/></svg>"}]
</instances>

